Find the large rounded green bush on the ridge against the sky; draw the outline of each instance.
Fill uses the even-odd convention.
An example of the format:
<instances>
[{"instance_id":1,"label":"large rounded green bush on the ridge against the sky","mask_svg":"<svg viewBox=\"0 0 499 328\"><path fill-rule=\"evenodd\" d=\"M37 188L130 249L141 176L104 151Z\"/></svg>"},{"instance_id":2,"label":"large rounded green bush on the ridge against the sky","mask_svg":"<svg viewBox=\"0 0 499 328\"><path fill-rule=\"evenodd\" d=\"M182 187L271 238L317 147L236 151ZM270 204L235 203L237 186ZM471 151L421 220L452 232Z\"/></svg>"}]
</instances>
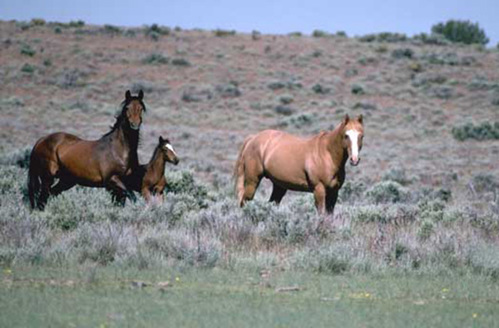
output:
<instances>
[{"instance_id":1,"label":"large rounded green bush on the ridge against the sky","mask_svg":"<svg viewBox=\"0 0 499 328\"><path fill-rule=\"evenodd\" d=\"M464 44L487 44L489 39L478 23L462 20L448 20L431 28L432 33L441 34L451 42Z\"/></svg>"}]
</instances>

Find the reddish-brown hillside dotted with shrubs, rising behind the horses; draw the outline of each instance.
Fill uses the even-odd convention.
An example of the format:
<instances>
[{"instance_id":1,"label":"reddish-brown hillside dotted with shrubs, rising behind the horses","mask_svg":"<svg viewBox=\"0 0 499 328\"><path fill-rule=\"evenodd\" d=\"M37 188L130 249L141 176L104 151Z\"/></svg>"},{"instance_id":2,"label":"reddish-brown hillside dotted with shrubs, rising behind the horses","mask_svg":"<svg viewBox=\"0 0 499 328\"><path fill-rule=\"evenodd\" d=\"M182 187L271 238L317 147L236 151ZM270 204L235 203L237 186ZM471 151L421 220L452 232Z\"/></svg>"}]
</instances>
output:
<instances>
[{"instance_id":1,"label":"reddish-brown hillside dotted with shrubs, rising behind the horses","mask_svg":"<svg viewBox=\"0 0 499 328\"><path fill-rule=\"evenodd\" d=\"M254 40L175 30L153 38L146 28L23 26L0 23L3 151L58 130L98 138L124 92L144 89L142 161L162 134L200 176L230 173L248 134L310 135L345 113L366 116L362 165L348 169L356 178L378 181L403 168L417 183L454 188L499 169L497 141L451 134L463 123L499 120L496 51L342 36Z\"/></svg>"}]
</instances>

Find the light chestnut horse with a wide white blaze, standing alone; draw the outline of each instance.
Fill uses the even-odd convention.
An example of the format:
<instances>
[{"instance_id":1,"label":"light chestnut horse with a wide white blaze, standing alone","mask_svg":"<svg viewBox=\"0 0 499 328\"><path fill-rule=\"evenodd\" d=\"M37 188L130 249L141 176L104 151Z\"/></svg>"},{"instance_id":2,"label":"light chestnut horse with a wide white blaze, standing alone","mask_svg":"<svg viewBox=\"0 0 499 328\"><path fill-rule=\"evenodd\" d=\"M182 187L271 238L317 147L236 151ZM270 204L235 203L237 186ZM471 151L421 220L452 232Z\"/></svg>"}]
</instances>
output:
<instances>
[{"instance_id":1,"label":"light chestnut horse with a wide white blaze, standing alone","mask_svg":"<svg viewBox=\"0 0 499 328\"><path fill-rule=\"evenodd\" d=\"M348 115L333 130L308 139L265 130L244 141L236 162L239 205L253 199L263 177L273 183L271 202L280 203L286 191L313 192L319 213L332 213L345 181L345 164L356 166L362 148L362 115Z\"/></svg>"}]
</instances>

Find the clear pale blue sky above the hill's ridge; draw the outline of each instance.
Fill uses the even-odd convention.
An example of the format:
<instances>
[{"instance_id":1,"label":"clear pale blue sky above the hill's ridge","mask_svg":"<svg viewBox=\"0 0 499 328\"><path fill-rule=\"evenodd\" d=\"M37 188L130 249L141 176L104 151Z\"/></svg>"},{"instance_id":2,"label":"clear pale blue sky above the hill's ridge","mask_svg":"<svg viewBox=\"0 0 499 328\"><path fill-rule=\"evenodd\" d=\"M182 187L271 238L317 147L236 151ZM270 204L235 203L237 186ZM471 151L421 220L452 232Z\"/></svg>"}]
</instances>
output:
<instances>
[{"instance_id":1,"label":"clear pale blue sky above the hill's ridge","mask_svg":"<svg viewBox=\"0 0 499 328\"><path fill-rule=\"evenodd\" d=\"M182 28L235 29L241 32L310 33L314 29L348 35L430 32L448 19L478 22L499 41L499 0L0 0L0 19L141 26L158 23Z\"/></svg>"}]
</instances>

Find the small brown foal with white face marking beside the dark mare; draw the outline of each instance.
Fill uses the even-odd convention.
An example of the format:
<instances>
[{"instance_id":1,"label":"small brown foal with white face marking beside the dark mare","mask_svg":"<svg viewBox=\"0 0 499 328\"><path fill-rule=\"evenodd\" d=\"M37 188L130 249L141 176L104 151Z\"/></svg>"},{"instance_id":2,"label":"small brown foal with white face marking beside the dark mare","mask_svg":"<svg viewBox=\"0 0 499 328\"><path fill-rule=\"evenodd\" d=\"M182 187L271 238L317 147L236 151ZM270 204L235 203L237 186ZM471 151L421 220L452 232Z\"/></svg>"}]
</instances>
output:
<instances>
[{"instance_id":1,"label":"small brown foal with white face marking beside the dark mare","mask_svg":"<svg viewBox=\"0 0 499 328\"><path fill-rule=\"evenodd\" d=\"M149 163L140 165L131 175L127 175L123 182L128 189L140 192L146 202L149 202L151 194L163 195L166 187L166 162L177 165L179 159L170 141L160 136Z\"/></svg>"}]
</instances>

